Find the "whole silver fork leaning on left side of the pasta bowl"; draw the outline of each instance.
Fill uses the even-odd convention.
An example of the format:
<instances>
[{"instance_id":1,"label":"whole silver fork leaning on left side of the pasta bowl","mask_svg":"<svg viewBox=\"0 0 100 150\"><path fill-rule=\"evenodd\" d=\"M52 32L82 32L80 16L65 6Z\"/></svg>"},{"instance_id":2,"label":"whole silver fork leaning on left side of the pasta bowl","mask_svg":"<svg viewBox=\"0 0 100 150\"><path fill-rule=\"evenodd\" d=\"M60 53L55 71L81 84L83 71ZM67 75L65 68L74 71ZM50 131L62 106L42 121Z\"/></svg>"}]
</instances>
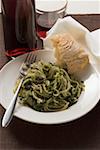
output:
<instances>
[{"instance_id":1,"label":"whole silver fork leaning on left side of the pasta bowl","mask_svg":"<svg viewBox=\"0 0 100 150\"><path fill-rule=\"evenodd\" d=\"M17 102L18 93L19 93L19 90L20 90L21 85L23 83L24 77L27 74L27 70L28 70L29 66L35 61L36 61L36 56L33 55L32 53L28 53L24 62L22 63L22 65L19 69L21 80L20 80L18 88L17 88L17 90L13 96L13 99L11 100L11 102L10 102L10 104L9 104L9 106L8 106L4 116L2 118L2 127L7 127L12 120L15 106L16 106L16 102ZM27 67L25 67L25 66L27 66Z\"/></svg>"}]
</instances>

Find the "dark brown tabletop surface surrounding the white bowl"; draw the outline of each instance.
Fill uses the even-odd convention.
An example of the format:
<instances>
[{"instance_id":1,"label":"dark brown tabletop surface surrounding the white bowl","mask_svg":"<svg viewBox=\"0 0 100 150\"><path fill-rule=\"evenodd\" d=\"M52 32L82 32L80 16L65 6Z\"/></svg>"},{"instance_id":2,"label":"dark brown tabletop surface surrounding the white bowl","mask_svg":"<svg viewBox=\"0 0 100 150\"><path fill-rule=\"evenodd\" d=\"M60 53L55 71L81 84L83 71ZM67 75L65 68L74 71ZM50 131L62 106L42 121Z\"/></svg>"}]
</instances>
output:
<instances>
[{"instance_id":1,"label":"dark brown tabletop surface surrounding the white bowl","mask_svg":"<svg viewBox=\"0 0 100 150\"><path fill-rule=\"evenodd\" d=\"M100 15L72 15L90 31L100 28ZM7 63L0 15L0 68ZM92 83L91 83L92 84ZM0 116L4 109L0 106ZM100 102L84 117L61 125L37 125L13 118L0 127L0 150L99 150Z\"/></svg>"}]
</instances>

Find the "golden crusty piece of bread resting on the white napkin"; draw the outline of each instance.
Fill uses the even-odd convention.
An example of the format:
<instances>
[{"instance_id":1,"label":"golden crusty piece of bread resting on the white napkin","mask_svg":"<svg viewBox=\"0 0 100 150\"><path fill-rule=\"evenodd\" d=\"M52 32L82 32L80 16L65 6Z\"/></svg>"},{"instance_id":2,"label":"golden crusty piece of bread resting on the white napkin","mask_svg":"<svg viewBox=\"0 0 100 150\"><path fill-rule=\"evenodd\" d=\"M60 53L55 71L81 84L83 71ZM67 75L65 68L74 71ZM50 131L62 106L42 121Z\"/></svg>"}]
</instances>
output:
<instances>
[{"instance_id":1,"label":"golden crusty piece of bread resting on the white napkin","mask_svg":"<svg viewBox=\"0 0 100 150\"><path fill-rule=\"evenodd\" d=\"M88 54L68 33L52 37L57 64L67 68L70 74L81 72L89 64Z\"/></svg>"}]
</instances>

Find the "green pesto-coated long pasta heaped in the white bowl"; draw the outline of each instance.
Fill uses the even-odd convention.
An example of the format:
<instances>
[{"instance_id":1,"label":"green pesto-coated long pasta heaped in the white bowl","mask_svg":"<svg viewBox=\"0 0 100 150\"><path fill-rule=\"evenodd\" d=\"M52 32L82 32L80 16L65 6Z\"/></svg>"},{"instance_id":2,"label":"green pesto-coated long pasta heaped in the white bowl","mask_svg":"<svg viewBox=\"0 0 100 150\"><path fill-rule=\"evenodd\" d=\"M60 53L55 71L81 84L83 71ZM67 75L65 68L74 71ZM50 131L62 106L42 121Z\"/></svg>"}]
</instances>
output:
<instances>
[{"instance_id":1,"label":"green pesto-coated long pasta heaped in the white bowl","mask_svg":"<svg viewBox=\"0 0 100 150\"><path fill-rule=\"evenodd\" d=\"M20 79L16 83L16 88ZM56 112L78 101L84 82L56 64L38 61L28 69L19 91L19 102L40 112Z\"/></svg>"}]
</instances>

